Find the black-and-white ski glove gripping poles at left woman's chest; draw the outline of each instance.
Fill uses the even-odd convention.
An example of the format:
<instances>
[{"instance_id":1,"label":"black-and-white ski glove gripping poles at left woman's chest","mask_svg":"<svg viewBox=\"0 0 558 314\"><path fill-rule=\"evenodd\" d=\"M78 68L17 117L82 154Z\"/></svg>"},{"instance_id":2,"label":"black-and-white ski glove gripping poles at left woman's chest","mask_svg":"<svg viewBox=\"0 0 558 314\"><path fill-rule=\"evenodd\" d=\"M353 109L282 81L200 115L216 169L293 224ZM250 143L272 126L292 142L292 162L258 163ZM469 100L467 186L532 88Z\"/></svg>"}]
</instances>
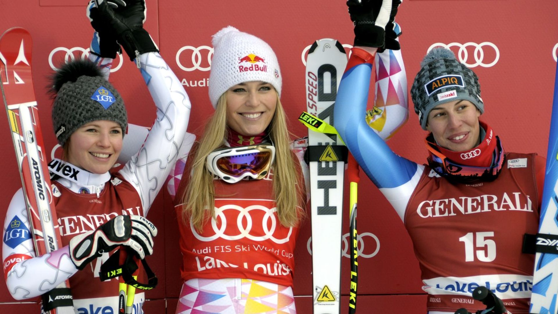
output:
<instances>
[{"instance_id":1,"label":"black-and-white ski glove gripping poles at left woman's chest","mask_svg":"<svg viewBox=\"0 0 558 314\"><path fill-rule=\"evenodd\" d=\"M70 240L70 257L78 269L83 269L103 253L124 245L143 259L153 253L153 237L156 235L157 228L142 216L116 216L96 230L73 237Z\"/></svg>"}]
</instances>

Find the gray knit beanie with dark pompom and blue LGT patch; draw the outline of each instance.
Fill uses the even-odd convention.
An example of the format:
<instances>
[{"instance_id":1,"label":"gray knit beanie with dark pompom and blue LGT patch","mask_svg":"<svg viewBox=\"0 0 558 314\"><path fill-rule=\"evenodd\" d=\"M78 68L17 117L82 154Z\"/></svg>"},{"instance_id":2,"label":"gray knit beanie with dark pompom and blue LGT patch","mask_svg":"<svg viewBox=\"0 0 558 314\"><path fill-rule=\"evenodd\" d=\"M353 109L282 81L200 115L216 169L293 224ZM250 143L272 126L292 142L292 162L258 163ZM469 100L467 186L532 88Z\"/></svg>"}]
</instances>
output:
<instances>
[{"instance_id":1,"label":"gray knit beanie with dark pompom and blue LGT patch","mask_svg":"<svg viewBox=\"0 0 558 314\"><path fill-rule=\"evenodd\" d=\"M52 127L61 146L75 130L96 120L109 120L128 126L124 101L108 80L103 78L97 64L89 60L66 63L52 77L56 93L52 105Z\"/></svg>"}]
</instances>

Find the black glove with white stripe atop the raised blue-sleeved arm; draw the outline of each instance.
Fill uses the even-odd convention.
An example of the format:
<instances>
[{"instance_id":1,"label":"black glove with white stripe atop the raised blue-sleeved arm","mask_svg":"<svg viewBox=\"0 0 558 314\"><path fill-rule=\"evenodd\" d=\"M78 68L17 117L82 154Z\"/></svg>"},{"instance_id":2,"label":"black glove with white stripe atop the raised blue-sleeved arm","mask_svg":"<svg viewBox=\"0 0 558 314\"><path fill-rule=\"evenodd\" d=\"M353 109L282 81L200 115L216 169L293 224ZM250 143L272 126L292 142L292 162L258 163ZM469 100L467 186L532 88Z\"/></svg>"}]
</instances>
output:
<instances>
[{"instance_id":1,"label":"black glove with white stripe atop the raised blue-sleeved arm","mask_svg":"<svg viewBox=\"0 0 558 314\"><path fill-rule=\"evenodd\" d=\"M386 25L395 18L401 0L348 0L349 15L354 24L354 46L386 47ZM396 11L392 15L392 8ZM393 28L393 26L392 26Z\"/></svg>"}]
</instances>

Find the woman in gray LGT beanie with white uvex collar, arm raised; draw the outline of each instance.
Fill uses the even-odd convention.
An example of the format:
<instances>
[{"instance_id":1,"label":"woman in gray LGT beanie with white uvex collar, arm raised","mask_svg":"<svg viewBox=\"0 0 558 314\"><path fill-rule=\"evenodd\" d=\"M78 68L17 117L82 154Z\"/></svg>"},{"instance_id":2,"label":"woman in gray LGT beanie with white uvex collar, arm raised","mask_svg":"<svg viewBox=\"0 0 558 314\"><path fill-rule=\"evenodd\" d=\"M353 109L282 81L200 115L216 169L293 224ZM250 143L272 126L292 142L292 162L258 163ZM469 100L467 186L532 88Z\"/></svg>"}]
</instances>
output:
<instances>
[{"instance_id":1,"label":"woman in gray LGT beanie with white uvex collar, arm raised","mask_svg":"<svg viewBox=\"0 0 558 314\"><path fill-rule=\"evenodd\" d=\"M43 295L45 311L58 299L73 297L73 308L59 307L59 313L121 313L119 280L100 281L99 269L120 247L141 259L152 254L157 229L145 216L186 134L189 98L142 27L145 3L126 4L116 8L106 1L99 7L89 4L88 17L95 28L89 60L65 64L52 79L52 124L63 153L49 163L49 170L62 248L35 255L21 189L7 211L4 231L16 227L27 231L15 241L4 241L3 259L17 261L5 269L9 292L20 300ZM157 117L140 151L122 170L110 172L128 127L123 99L107 80L121 50L118 43L146 79ZM70 297L56 289L68 279ZM140 272L135 284L146 281ZM145 293L136 292L128 295L126 313L143 312Z\"/></svg>"}]
</instances>

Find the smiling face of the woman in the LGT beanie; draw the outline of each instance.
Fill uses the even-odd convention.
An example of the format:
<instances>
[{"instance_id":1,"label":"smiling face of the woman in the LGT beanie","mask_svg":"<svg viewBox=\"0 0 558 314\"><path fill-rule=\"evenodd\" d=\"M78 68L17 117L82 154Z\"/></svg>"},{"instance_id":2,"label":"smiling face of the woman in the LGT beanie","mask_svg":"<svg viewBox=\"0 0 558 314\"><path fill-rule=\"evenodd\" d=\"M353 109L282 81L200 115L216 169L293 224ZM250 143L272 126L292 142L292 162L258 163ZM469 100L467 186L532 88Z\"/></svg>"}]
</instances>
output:
<instances>
[{"instance_id":1,"label":"smiling face of the woman in the LGT beanie","mask_svg":"<svg viewBox=\"0 0 558 314\"><path fill-rule=\"evenodd\" d=\"M84 124L70 136L68 161L91 173L103 174L116 163L122 150L122 128L114 121Z\"/></svg>"}]
</instances>

